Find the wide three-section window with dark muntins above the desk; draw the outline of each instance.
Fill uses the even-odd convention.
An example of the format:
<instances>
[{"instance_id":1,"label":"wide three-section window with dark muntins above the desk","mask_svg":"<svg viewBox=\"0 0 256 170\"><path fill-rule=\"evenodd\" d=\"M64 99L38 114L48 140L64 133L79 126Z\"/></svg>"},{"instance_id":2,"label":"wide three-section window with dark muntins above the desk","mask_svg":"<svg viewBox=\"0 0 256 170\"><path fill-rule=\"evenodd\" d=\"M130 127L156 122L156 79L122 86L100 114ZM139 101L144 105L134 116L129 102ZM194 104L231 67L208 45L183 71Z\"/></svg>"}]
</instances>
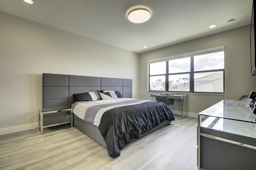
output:
<instances>
[{"instance_id":1,"label":"wide three-section window with dark muntins above the desk","mask_svg":"<svg viewBox=\"0 0 256 170\"><path fill-rule=\"evenodd\" d=\"M148 61L148 89L224 94L224 47Z\"/></svg>"}]
</instances>

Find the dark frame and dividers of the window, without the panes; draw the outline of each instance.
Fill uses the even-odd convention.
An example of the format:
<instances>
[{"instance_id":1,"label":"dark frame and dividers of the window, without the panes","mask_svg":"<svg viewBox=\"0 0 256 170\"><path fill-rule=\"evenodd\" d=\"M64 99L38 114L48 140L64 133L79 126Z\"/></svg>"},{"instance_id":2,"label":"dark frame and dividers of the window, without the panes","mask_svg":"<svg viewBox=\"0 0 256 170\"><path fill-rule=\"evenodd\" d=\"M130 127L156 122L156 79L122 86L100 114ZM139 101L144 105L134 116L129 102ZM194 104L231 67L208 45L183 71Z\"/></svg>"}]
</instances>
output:
<instances>
[{"instance_id":1,"label":"dark frame and dividers of the window, without the panes","mask_svg":"<svg viewBox=\"0 0 256 170\"><path fill-rule=\"evenodd\" d=\"M214 70L199 70L194 71L194 56L198 55L204 55L204 54L210 54L210 53L217 53L217 52L224 52L224 68L221 69L214 69ZM169 62L171 60L181 59L181 58L187 58L190 57L190 71L188 72L175 72L175 73L169 73ZM166 72L165 74L154 74L150 75L150 64L153 63L159 63L159 62L166 62ZM207 73L207 72L223 72L223 92L195 92L195 86L194 86L194 74L196 73ZM178 74L189 74L190 78L190 88L189 91L175 91L175 90L169 90L169 75L178 75ZM152 76L165 76L165 90L150 90L150 77ZM166 57L162 59L152 60L148 61L148 92L174 92L174 93L199 93L199 94L225 94L225 47L216 47L212 49L202 50L202 51L196 51L193 53L186 53L182 55L172 56L172 57Z\"/></svg>"}]
</instances>

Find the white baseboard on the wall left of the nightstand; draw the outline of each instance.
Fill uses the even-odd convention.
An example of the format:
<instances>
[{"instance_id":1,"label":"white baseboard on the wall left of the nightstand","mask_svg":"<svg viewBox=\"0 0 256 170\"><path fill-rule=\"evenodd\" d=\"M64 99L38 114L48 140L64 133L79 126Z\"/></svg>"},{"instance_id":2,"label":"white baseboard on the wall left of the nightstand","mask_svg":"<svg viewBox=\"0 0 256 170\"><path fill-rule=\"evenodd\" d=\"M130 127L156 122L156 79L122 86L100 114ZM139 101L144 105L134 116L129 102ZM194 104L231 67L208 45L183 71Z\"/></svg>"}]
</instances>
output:
<instances>
[{"instance_id":1,"label":"white baseboard on the wall left of the nightstand","mask_svg":"<svg viewBox=\"0 0 256 170\"><path fill-rule=\"evenodd\" d=\"M0 129L0 135L6 135L10 133L15 133L15 132L21 132L21 131L26 131L30 129L36 129L38 127L38 122L37 123L30 123L26 125L19 125L19 126L13 126L13 127L6 127Z\"/></svg>"}]
</instances>

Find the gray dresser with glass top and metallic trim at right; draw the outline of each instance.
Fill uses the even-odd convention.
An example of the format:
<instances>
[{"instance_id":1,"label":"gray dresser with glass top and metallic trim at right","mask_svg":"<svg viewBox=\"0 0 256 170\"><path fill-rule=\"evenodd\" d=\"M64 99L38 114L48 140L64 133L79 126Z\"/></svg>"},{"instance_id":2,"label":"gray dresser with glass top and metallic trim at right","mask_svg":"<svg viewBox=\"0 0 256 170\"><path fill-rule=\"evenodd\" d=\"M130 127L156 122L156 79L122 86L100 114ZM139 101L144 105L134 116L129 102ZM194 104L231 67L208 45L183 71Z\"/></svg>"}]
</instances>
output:
<instances>
[{"instance_id":1,"label":"gray dresser with glass top and metallic trim at right","mask_svg":"<svg viewBox=\"0 0 256 170\"><path fill-rule=\"evenodd\" d=\"M256 170L254 103L222 100L198 114L198 170Z\"/></svg>"}]
</instances>

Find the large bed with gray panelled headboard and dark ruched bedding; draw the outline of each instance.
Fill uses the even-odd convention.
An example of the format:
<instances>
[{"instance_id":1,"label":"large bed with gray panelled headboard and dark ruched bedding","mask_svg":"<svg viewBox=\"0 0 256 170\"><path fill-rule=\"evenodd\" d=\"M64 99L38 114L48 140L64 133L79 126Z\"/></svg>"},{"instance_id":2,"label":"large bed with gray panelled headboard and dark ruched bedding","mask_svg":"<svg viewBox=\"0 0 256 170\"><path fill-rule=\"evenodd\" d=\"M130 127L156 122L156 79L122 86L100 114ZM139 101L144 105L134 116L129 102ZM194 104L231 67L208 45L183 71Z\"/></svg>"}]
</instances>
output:
<instances>
[{"instance_id":1,"label":"large bed with gray panelled headboard and dark ruched bedding","mask_svg":"<svg viewBox=\"0 0 256 170\"><path fill-rule=\"evenodd\" d=\"M100 100L76 101L78 98L74 94L88 95L89 92L102 96ZM113 94L110 92L117 93L119 98L112 99ZM111 99L101 100L108 96ZM174 120L172 111L162 102L132 99L132 79L43 73L43 109L65 106L74 108L73 125L106 147L112 158L119 156L120 150L131 141ZM90 109L96 109L94 113L97 114L100 112L96 124L88 123L81 117L83 114L88 115L82 113L83 110ZM95 117L90 119L94 120ZM103 120L107 123L102 123Z\"/></svg>"}]
</instances>

